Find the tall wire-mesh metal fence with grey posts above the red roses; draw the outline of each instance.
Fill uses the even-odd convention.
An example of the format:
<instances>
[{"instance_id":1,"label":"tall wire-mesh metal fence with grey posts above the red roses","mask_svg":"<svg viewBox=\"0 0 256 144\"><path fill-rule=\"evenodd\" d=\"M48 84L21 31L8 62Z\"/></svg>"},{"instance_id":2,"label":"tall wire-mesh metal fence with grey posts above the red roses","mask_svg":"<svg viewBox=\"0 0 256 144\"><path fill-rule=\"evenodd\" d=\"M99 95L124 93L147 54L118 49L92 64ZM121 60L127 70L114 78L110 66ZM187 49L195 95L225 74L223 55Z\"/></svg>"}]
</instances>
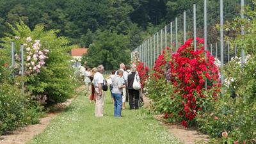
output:
<instances>
[{"instance_id":1,"label":"tall wire-mesh metal fence with grey posts above the red roses","mask_svg":"<svg viewBox=\"0 0 256 144\"><path fill-rule=\"evenodd\" d=\"M184 13L180 13L179 17L176 17L163 29L148 36L134 51L139 53L139 60L145 66L152 68L154 61L166 47L170 47L172 52L176 52L188 38L194 38L194 43L196 43L196 37L204 38L205 50L211 52L212 56L221 61L221 83L223 83L223 65L234 56L241 56L242 63L244 62L243 49L237 51L237 46L231 48L230 43L224 40L224 36L232 37L236 33L224 33L223 24L236 17L244 18L245 4L251 5L252 0L199 1ZM216 28L217 24L220 25L219 29ZM243 28L241 34L244 34Z\"/></svg>"}]
</instances>

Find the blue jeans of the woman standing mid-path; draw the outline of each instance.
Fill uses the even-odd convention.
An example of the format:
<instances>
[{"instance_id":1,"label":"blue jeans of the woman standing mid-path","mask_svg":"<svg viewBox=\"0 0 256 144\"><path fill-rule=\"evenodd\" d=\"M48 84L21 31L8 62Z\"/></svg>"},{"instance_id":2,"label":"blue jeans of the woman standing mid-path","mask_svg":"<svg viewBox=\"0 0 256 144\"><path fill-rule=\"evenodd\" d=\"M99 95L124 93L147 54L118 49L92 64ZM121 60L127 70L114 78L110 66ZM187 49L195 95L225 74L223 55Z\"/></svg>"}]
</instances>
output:
<instances>
[{"instance_id":1,"label":"blue jeans of the woman standing mid-path","mask_svg":"<svg viewBox=\"0 0 256 144\"><path fill-rule=\"evenodd\" d=\"M114 116L121 117L122 112L122 93L112 93L114 98Z\"/></svg>"}]
</instances>

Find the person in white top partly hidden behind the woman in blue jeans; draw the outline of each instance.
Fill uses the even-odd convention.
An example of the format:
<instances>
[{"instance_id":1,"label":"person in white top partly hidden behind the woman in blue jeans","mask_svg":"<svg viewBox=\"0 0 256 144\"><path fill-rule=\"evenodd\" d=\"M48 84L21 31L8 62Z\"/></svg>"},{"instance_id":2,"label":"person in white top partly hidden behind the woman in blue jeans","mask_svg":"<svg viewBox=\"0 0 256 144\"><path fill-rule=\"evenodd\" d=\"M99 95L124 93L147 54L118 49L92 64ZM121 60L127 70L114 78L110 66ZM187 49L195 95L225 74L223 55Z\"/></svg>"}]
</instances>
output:
<instances>
[{"instance_id":1,"label":"person in white top partly hidden behind the woman in blue jeans","mask_svg":"<svg viewBox=\"0 0 256 144\"><path fill-rule=\"evenodd\" d=\"M122 96L123 104L122 104L122 109L125 109L125 100L126 100L126 92L127 92L126 91L126 85L127 85L127 79L128 79L128 72L125 71L124 63L121 63L119 65L119 67L120 67L120 70L122 70L124 72L123 77L122 77L122 83L125 85L125 87L123 88L123 96Z\"/></svg>"}]
</instances>

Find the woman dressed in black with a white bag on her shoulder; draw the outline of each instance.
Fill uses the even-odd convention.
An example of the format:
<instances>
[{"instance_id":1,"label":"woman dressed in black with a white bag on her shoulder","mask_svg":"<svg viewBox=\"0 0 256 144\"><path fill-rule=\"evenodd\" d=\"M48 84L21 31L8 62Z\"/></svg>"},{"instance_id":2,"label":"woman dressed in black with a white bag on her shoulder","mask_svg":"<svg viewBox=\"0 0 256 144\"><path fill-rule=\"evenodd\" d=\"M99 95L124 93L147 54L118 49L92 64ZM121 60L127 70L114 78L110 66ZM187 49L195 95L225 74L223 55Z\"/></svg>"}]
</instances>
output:
<instances>
[{"instance_id":1,"label":"woman dressed in black with a white bag on her shoulder","mask_svg":"<svg viewBox=\"0 0 256 144\"><path fill-rule=\"evenodd\" d=\"M138 109L139 108L139 97L140 97L140 90L134 90L132 87L134 78L136 77L136 80L138 83L140 83L140 76L138 75L138 72L136 70L136 65L131 65L131 74L128 75L128 93L129 93L129 105L130 109ZM133 100L135 99L135 101Z\"/></svg>"}]
</instances>

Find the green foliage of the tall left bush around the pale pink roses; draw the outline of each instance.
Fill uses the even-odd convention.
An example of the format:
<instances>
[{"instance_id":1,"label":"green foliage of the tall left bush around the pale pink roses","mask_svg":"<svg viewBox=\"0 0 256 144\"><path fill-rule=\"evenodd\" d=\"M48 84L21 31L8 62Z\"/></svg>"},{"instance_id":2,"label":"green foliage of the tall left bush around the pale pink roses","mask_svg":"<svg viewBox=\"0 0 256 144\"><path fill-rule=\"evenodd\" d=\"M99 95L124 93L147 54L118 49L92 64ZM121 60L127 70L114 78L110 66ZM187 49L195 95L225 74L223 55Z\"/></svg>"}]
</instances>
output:
<instances>
[{"instance_id":1,"label":"green foliage of the tall left bush around the pale pink roses","mask_svg":"<svg viewBox=\"0 0 256 144\"><path fill-rule=\"evenodd\" d=\"M26 38L31 36L32 40L40 40L42 47L49 49L45 68L42 68L39 74L26 77L26 90L32 95L47 95L47 102L63 102L72 96L76 84L74 83L74 70L71 67L71 56L67 53L71 47L68 47L68 40L64 37L58 37L57 30L44 31L44 26L36 26L31 31L23 22L10 26L12 33L6 35L3 40L4 52L10 56L10 43L15 42L15 53L20 53L20 44L24 44ZM19 39L14 39L19 36ZM10 58L10 57L9 57Z\"/></svg>"}]
</instances>

